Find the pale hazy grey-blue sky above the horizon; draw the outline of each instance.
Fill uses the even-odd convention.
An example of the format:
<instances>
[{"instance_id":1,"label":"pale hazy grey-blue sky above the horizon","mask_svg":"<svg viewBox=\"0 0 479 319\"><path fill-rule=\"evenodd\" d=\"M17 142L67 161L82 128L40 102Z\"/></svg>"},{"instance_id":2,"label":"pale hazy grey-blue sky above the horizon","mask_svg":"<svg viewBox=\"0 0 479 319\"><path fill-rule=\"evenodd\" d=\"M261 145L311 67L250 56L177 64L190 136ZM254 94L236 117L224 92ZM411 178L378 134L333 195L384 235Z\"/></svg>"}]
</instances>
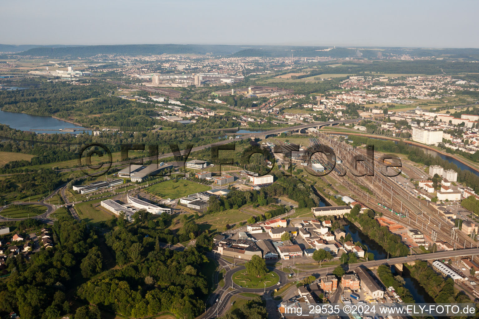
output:
<instances>
[{"instance_id":1,"label":"pale hazy grey-blue sky above the horizon","mask_svg":"<svg viewBox=\"0 0 479 319\"><path fill-rule=\"evenodd\" d=\"M2 1L1 44L479 47L479 1Z\"/></svg>"}]
</instances>

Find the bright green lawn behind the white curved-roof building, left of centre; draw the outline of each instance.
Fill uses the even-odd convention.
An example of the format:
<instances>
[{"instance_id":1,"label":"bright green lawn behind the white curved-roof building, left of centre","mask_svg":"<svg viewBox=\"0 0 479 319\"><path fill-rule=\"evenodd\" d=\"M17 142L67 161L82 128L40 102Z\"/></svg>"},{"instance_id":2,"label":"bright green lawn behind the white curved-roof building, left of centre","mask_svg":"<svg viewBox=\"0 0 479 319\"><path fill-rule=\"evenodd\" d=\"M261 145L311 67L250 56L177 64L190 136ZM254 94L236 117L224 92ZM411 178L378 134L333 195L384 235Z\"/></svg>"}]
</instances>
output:
<instances>
[{"instance_id":1,"label":"bright green lawn behind the white curved-roof building, left of centre","mask_svg":"<svg viewBox=\"0 0 479 319\"><path fill-rule=\"evenodd\" d=\"M211 187L209 186L181 179L176 183L173 180L158 183L145 188L145 191L161 198L175 199L197 192L204 192L210 189Z\"/></svg>"}]
</instances>

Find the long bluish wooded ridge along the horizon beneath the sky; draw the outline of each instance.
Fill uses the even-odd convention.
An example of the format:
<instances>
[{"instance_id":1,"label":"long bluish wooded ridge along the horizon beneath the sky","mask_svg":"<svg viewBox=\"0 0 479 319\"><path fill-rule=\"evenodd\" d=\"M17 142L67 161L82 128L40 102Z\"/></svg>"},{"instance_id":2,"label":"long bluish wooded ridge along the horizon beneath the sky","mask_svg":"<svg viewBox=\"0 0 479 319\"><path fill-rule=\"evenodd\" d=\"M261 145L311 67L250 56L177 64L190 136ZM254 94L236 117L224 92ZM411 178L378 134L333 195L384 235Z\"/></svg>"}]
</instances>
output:
<instances>
[{"instance_id":1,"label":"long bluish wooded ridge along the horizon beneath the sky","mask_svg":"<svg viewBox=\"0 0 479 319\"><path fill-rule=\"evenodd\" d=\"M113 55L160 55L160 54L211 54L238 57L296 57L331 56L332 58L363 57L378 58L411 55L448 58L479 58L479 49L425 49L399 47L326 47L293 45L221 45L221 44L119 44L119 45L10 45L0 44L0 52L17 52L16 55L46 56L50 58L91 57L101 54Z\"/></svg>"}]
</instances>

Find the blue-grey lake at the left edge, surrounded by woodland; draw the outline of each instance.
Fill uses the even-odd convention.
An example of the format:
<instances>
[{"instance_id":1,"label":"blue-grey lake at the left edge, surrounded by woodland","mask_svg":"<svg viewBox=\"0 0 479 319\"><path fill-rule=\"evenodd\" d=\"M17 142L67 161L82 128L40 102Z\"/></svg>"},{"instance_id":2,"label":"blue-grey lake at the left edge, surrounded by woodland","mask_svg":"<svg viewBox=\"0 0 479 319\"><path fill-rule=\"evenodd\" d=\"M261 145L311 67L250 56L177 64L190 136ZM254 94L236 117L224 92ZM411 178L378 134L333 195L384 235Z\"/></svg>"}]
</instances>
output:
<instances>
[{"instance_id":1,"label":"blue-grey lake at the left edge, surrounded by woodland","mask_svg":"<svg viewBox=\"0 0 479 319\"><path fill-rule=\"evenodd\" d=\"M60 129L82 129L83 127L77 124L72 124L67 121L58 120L51 116L38 116L25 113L7 112L0 110L0 123L7 124L12 129L30 131L37 133L72 133L58 131ZM88 130L91 131L91 130ZM87 131L87 132L88 132ZM75 133L81 133L76 131Z\"/></svg>"}]
</instances>

